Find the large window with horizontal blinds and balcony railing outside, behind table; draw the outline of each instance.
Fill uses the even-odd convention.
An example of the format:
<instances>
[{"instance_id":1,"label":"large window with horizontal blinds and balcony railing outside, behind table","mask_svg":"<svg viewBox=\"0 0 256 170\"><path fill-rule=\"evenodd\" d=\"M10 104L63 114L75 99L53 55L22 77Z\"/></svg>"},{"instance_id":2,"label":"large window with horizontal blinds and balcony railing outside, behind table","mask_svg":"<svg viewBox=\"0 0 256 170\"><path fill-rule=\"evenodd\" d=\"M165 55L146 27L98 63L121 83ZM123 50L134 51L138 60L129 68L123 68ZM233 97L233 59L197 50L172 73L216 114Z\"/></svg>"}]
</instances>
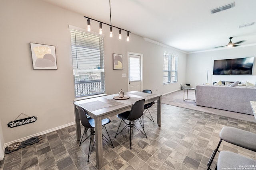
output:
<instances>
[{"instance_id":1,"label":"large window with horizontal blinds and balcony railing outside, behind table","mask_svg":"<svg viewBox=\"0 0 256 170\"><path fill-rule=\"evenodd\" d=\"M103 37L70 29L77 97L105 93Z\"/></svg>"}]
</instances>

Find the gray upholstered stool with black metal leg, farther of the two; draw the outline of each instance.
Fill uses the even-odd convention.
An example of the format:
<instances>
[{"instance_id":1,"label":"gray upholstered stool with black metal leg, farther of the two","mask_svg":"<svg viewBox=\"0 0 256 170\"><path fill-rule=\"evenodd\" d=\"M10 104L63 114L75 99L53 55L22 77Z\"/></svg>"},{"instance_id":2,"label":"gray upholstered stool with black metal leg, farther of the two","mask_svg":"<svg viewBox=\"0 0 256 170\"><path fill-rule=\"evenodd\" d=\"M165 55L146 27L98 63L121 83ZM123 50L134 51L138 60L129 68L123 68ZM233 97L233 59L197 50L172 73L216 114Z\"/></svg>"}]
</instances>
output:
<instances>
[{"instance_id":1,"label":"gray upholstered stool with black metal leg, farther of the two","mask_svg":"<svg viewBox=\"0 0 256 170\"><path fill-rule=\"evenodd\" d=\"M217 148L212 152L212 156L210 157L210 160L207 164L208 170L210 169L210 166L213 162L213 159L217 151L220 152L218 149L220 147L222 140L228 143L237 145L239 147L256 152L256 134L255 133L244 131L242 129L237 129L234 127L223 127L219 135L220 135L220 142Z\"/></svg>"}]
</instances>

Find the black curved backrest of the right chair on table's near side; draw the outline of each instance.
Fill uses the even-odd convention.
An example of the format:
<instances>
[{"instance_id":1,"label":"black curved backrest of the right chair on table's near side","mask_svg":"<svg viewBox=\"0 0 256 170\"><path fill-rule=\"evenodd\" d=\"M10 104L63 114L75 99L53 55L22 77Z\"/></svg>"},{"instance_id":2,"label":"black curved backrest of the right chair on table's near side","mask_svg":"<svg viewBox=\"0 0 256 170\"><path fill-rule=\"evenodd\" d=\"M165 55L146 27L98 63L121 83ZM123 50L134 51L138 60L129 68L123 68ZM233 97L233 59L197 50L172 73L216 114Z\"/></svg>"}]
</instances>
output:
<instances>
[{"instance_id":1,"label":"black curved backrest of the right chair on table's near side","mask_svg":"<svg viewBox=\"0 0 256 170\"><path fill-rule=\"evenodd\" d=\"M130 111L130 115L126 120L132 121L140 118L144 111L144 102L145 99L138 100L137 102L135 102L135 104L132 106L132 110Z\"/></svg>"}]
</instances>

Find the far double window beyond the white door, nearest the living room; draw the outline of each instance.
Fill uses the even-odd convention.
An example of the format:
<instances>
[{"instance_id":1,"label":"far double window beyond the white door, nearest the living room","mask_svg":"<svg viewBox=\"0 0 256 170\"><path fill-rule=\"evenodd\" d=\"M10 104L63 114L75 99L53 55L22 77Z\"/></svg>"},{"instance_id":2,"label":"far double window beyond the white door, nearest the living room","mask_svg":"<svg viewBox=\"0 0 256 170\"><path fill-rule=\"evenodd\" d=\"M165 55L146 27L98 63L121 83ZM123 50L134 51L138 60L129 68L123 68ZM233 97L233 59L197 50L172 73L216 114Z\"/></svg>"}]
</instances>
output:
<instances>
[{"instance_id":1,"label":"far double window beyond the white door, nearest the living room","mask_svg":"<svg viewBox=\"0 0 256 170\"><path fill-rule=\"evenodd\" d=\"M164 53L164 84L177 82L178 56Z\"/></svg>"}]
</instances>

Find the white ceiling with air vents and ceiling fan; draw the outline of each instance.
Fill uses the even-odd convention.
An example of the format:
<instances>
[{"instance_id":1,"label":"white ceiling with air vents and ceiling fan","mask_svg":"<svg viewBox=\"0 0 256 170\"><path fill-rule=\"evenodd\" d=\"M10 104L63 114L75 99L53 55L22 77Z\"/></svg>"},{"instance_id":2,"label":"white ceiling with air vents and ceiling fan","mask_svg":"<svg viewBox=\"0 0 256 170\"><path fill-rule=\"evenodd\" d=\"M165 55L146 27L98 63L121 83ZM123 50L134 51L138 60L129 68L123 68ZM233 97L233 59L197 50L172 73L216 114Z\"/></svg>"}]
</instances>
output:
<instances>
[{"instance_id":1,"label":"white ceiling with air vents and ceiling fan","mask_svg":"<svg viewBox=\"0 0 256 170\"><path fill-rule=\"evenodd\" d=\"M110 24L109 0L43 1ZM256 23L239 28L239 25L256 22L256 0L111 0L110 2L112 25L186 53L228 48L215 47L227 45L229 37L234 37L233 43L245 40L239 47L256 45ZM234 8L211 14L212 9L232 2L235 2ZM84 18L85 23L86 20Z\"/></svg>"}]
</instances>

